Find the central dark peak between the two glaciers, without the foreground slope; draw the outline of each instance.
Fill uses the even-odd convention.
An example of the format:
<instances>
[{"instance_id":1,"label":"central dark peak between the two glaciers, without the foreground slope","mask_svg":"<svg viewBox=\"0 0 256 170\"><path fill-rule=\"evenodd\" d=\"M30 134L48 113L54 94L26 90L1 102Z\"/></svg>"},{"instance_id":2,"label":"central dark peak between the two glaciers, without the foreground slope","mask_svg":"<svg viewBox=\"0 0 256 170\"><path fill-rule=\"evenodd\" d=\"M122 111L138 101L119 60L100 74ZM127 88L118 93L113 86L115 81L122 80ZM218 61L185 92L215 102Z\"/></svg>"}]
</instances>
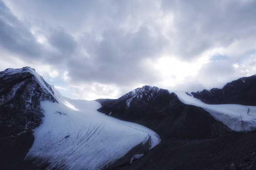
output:
<instances>
[{"instance_id":1,"label":"central dark peak between the two glaciers, without the foreground slope","mask_svg":"<svg viewBox=\"0 0 256 170\"><path fill-rule=\"evenodd\" d=\"M157 87L143 86L118 99L100 102L102 108L98 111L144 125L158 133L162 139L201 139L230 131L205 110L183 104L175 93Z\"/></svg>"}]
</instances>

